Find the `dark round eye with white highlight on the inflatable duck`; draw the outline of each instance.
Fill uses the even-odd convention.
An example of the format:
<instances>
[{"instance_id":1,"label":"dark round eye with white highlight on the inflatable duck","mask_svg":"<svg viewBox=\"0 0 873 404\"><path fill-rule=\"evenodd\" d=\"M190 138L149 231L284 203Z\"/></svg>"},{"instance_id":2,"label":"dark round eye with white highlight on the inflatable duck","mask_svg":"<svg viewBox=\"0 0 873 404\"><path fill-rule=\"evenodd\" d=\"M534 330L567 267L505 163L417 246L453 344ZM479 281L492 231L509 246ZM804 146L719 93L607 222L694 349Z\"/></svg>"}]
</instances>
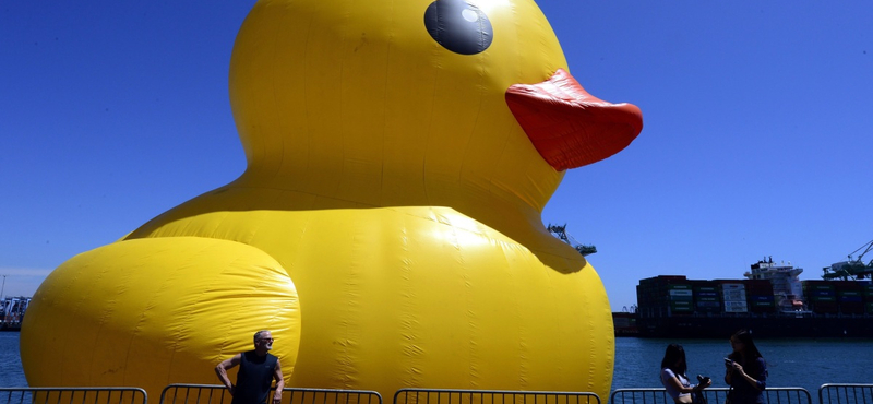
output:
<instances>
[{"instance_id":1,"label":"dark round eye with white highlight on the inflatable duck","mask_svg":"<svg viewBox=\"0 0 873 404\"><path fill-rule=\"evenodd\" d=\"M493 29L488 16L463 0L436 0L424 12L424 26L444 48L461 55L476 55L488 49Z\"/></svg>"}]
</instances>

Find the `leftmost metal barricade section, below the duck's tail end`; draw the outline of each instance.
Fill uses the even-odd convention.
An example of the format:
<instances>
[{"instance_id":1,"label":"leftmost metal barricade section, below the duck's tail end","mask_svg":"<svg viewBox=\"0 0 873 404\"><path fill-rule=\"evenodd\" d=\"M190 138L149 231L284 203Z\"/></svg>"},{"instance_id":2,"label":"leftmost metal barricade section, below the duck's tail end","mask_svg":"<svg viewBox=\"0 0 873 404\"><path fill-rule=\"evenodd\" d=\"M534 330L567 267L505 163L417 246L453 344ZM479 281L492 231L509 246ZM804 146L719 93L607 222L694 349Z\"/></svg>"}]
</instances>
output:
<instances>
[{"instance_id":1,"label":"leftmost metal barricade section, below the duck's tail end","mask_svg":"<svg viewBox=\"0 0 873 404\"><path fill-rule=\"evenodd\" d=\"M146 404L139 388L0 388L0 404Z\"/></svg>"}]
</instances>

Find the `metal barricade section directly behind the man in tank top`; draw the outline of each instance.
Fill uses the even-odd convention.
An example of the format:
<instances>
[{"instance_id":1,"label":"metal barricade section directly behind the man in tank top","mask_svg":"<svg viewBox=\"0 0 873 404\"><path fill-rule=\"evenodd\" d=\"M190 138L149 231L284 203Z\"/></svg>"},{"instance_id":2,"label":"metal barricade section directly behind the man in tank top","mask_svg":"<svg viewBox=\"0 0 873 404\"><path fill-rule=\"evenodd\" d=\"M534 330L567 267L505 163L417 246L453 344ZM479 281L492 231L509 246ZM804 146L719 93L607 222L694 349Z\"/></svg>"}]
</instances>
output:
<instances>
[{"instance_id":1,"label":"metal barricade section directly behind the man in tank top","mask_svg":"<svg viewBox=\"0 0 873 404\"><path fill-rule=\"evenodd\" d=\"M270 391L272 395L275 388ZM368 390L286 388L282 391L282 404L382 404L382 395ZM230 404L231 399L220 384L170 384L160 392L160 404Z\"/></svg>"}]
</instances>

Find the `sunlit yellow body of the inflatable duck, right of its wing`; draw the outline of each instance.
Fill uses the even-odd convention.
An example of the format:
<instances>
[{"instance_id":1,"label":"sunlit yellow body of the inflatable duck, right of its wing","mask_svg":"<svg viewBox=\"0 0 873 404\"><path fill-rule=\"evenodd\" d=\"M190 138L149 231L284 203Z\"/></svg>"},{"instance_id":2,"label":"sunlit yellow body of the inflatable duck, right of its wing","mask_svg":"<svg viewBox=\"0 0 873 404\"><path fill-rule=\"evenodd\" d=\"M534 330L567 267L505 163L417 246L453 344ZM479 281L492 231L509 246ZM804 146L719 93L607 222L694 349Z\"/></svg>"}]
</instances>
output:
<instances>
[{"instance_id":1,"label":"sunlit yellow body of the inflatable duck, right of its wing","mask_svg":"<svg viewBox=\"0 0 873 404\"><path fill-rule=\"evenodd\" d=\"M216 198L288 197L238 192ZM450 207L252 207L188 216L133 236L203 229L201 237L232 238L282 262L303 318L289 385L385 395L404 387L588 391L610 384L606 294L594 270L560 241L553 247L569 250L561 259L576 266L573 273L552 270Z\"/></svg>"}]
</instances>

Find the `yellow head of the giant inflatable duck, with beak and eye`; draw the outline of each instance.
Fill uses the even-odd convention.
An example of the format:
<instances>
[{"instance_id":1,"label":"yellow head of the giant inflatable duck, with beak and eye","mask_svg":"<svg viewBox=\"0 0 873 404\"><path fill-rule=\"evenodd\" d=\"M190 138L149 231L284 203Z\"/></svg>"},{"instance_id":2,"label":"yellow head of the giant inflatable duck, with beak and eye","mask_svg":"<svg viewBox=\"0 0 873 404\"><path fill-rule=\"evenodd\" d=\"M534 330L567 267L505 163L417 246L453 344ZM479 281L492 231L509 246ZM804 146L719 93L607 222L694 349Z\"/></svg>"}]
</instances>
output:
<instances>
[{"instance_id":1,"label":"yellow head of the giant inflatable duck, with beak and eye","mask_svg":"<svg viewBox=\"0 0 873 404\"><path fill-rule=\"evenodd\" d=\"M540 211L642 130L570 75L533 0L261 0L230 95L243 179L376 206Z\"/></svg>"}]
</instances>

